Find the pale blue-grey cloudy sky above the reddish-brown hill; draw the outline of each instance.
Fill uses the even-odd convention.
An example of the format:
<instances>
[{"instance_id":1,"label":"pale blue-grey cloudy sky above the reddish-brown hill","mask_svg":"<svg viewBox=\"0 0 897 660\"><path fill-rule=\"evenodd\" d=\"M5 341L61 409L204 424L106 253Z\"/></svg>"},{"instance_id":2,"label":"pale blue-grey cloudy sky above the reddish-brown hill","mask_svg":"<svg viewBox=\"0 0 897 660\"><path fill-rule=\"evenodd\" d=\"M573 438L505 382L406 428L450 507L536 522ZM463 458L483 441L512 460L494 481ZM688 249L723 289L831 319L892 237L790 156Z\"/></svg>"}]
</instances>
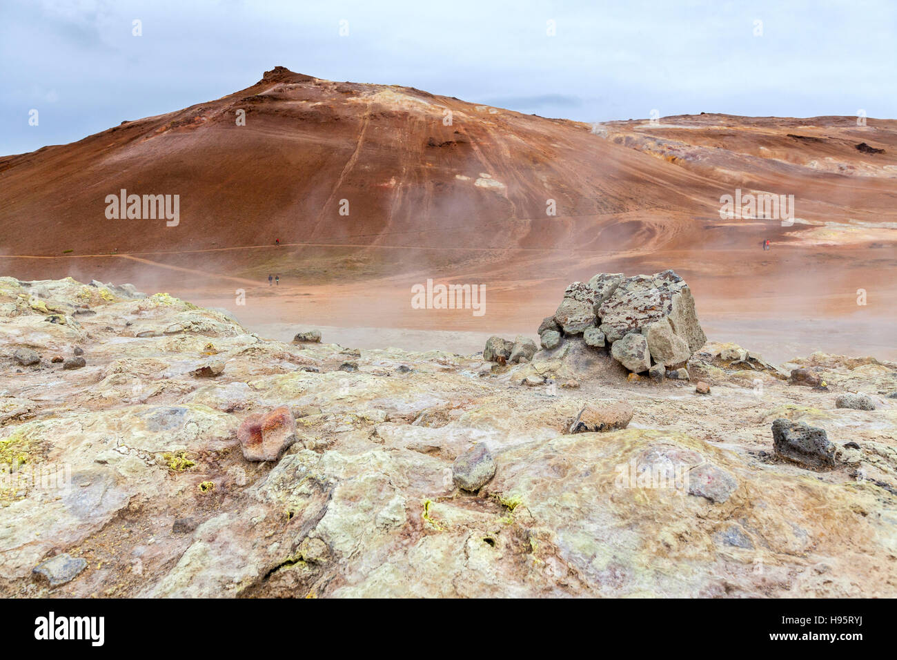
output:
<instances>
[{"instance_id":1,"label":"pale blue-grey cloudy sky above the reddish-brown hill","mask_svg":"<svg viewBox=\"0 0 897 660\"><path fill-rule=\"evenodd\" d=\"M588 122L897 118L893 0L0 0L0 58L0 154L211 101L278 65Z\"/></svg>"}]
</instances>

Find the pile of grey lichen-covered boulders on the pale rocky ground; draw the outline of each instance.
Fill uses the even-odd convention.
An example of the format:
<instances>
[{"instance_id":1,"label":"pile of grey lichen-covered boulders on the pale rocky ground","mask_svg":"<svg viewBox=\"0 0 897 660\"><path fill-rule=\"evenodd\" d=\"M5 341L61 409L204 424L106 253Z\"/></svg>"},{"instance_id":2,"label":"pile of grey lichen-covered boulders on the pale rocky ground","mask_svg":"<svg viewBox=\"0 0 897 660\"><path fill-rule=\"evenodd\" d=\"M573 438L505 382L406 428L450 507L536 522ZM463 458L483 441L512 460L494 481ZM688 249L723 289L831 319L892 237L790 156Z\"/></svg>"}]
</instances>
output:
<instances>
[{"instance_id":1,"label":"pile of grey lichen-covered boulders on the pale rocky ground","mask_svg":"<svg viewBox=\"0 0 897 660\"><path fill-rule=\"evenodd\" d=\"M671 376L679 370L685 373L685 363L707 341L692 292L672 270L634 277L598 273L588 282L574 282L538 333L547 352L576 338L597 351L609 352L633 374L649 372L653 377L663 377L667 371ZM508 362L517 361L511 356L517 357L520 339L509 342L492 337L483 358L496 361L501 355Z\"/></svg>"}]
</instances>

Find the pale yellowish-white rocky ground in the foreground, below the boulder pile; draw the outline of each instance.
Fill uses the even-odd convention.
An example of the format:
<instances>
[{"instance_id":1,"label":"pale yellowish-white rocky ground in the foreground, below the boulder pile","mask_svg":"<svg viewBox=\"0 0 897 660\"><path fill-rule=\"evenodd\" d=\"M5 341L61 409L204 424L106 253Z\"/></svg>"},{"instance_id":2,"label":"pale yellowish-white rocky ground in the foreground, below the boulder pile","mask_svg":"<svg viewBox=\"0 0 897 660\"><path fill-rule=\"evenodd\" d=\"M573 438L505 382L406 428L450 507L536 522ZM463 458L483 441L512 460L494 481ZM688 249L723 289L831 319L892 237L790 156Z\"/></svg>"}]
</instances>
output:
<instances>
[{"instance_id":1,"label":"pale yellowish-white rocky ground in the foreground, below the boulder pile","mask_svg":"<svg viewBox=\"0 0 897 660\"><path fill-rule=\"evenodd\" d=\"M72 279L0 278L0 326L3 596L897 595L874 357L706 342L696 396L627 382L594 333L505 365L352 351Z\"/></svg>"}]
</instances>

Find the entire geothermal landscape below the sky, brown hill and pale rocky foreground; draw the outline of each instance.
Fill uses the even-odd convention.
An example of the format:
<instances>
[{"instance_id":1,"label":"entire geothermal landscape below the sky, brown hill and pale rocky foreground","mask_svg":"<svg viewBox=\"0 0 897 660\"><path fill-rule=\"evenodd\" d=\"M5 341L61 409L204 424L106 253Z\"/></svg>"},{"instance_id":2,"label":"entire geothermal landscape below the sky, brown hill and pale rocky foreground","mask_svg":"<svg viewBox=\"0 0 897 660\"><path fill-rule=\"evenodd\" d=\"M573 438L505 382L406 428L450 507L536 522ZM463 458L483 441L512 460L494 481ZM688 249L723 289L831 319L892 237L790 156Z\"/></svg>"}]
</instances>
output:
<instances>
[{"instance_id":1,"label":"entire geothermal landscape below the sky, brown hill and pale rocky foreground","mask_svg":"<svg viewBox=\"0 0 897 660\"><path fill-rule=\"evenodd\" d=\"M275 66L0 157L0 595L897 596L862 119Z\"/></svg>"}]
</instances>

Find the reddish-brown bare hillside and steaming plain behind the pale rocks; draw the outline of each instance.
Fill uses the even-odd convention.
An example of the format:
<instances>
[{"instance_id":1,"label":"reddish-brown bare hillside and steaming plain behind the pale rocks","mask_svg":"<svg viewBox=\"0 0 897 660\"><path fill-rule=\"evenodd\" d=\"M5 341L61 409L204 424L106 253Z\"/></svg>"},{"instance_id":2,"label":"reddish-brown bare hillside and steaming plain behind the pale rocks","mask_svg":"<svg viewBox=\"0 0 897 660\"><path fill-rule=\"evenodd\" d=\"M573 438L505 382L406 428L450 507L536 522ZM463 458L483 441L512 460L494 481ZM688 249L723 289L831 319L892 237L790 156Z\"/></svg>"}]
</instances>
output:
<instances>
[{"instance_id":1,"label":"reddish-brown bare hillside and steaming plain behind the pale rocks","mask_svg":"<svg viewBox=\"0 0 897 660\"><path fill-rule=\"evenodd\" d=\"M179 225L107 220L104 198L123 188L179 194ZM735 189L794 195L795 223L720 219ZM534 332L572 280L674 268L711 339L894 357L895 191L894 120L590 127L275 69L216 101L0 158L0 272L130 281L278 337L276 323L367 343L395 329L474 333L451 339L460 349ZM428 278L483 284L486 313L412 309L411 286Z\"/></svg>"}]
</instances>

